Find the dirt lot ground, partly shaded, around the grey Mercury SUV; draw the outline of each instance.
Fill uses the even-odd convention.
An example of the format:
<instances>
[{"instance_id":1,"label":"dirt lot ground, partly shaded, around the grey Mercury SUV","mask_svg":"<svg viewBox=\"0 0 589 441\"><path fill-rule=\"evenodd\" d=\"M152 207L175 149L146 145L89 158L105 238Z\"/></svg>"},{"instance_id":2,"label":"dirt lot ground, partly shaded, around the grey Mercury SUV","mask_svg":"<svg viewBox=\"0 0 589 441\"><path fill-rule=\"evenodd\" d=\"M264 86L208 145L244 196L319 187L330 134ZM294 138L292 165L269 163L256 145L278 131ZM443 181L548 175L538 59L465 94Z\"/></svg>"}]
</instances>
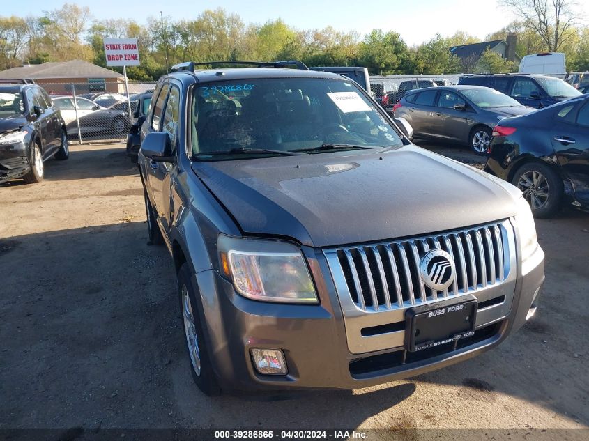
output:
<instances>
[{"instance_id":1,"label":"dirt lot ground, partly shaded, around the grey Mercury SUV","mask_svg":"<svg viewBox=\"0 0 589 441\"><path fill-rule=\"evenodd\" d=\"M0 185L0 428L589 427L588 214L537 222L540 309L489 353L353 392L209 399L136 167L121 145L71 150L43 183Z\"/></svg>"}]
</instances>

